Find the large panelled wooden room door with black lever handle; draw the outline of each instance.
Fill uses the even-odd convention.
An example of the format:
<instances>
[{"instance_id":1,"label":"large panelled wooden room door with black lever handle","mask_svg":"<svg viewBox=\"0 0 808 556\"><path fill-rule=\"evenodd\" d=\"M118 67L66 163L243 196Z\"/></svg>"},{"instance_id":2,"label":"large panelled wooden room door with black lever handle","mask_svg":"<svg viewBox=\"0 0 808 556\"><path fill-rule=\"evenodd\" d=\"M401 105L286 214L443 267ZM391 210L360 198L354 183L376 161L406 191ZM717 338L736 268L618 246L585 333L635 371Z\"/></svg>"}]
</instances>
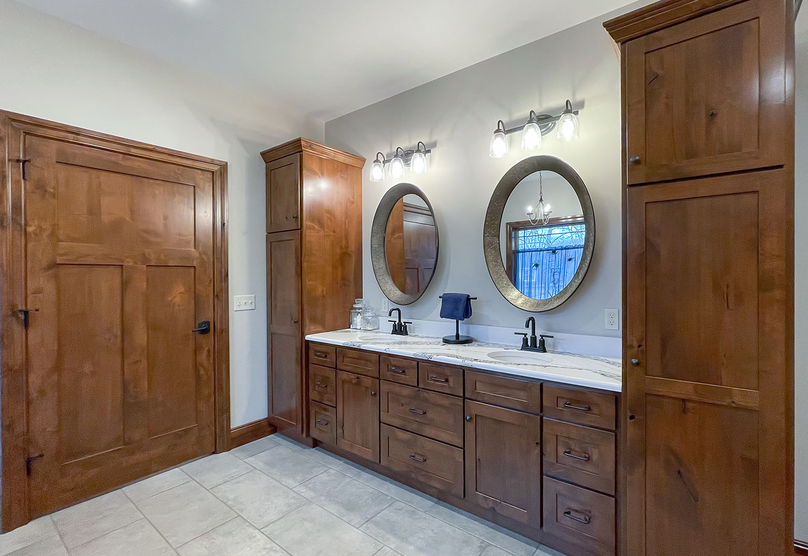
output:
<instances>
[{"instance_id":1,"label":"large panelled wooden room door with black lever handle","mask_svg":"<svg viewBox=\"0 0 808 556\"><path fill-rule=\"evenodd\" d=\"M210 172L26 135L27 434L40 516L214 449Z\"/></svg>"}]
</instances>

